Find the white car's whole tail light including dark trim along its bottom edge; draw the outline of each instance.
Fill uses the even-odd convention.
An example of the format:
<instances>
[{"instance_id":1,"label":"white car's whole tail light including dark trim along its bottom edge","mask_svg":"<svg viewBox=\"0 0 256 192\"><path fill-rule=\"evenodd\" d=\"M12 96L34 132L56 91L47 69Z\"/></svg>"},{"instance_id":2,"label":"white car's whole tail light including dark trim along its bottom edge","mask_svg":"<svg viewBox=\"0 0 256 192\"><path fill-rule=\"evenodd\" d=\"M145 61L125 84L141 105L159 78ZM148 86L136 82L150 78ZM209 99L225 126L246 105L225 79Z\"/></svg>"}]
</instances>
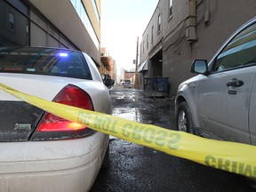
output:
<instances>
[{"instance_id":1,"label":"white car's whole tail light including dark trim along its bottom edge","mask_svg":"<svg viewBox=\"0 0 256 192\"><path fill-rule=\"evenodd\" d=\"M61 104L93 110L92 99L84 90L68 84L52 100ZM52 135L51 135L52 132ZM39 122L36 132L32 136L33 140L58 140L60 138L69 139L74 137L83 137L94 132L82 124L68 121L59 116L45 112ZM40 134L41 133L41 134ZM36 138L36 139L35 139ZM40 139L38 139L40 138ZM48 139L47 139L48 138Z\"/></svg>"}]
</instances>

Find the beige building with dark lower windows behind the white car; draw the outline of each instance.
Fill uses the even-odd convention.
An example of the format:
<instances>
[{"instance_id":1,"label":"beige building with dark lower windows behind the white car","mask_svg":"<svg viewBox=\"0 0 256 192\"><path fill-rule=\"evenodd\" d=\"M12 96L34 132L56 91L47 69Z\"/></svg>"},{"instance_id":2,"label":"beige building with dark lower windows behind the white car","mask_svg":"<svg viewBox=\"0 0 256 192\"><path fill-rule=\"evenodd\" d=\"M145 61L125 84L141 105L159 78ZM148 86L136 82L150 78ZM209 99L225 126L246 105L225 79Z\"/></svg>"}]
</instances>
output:
<instances>
[{"instance_id":1,"label":"beige building with dark lower windows behind the white car","mask_svg":"<svg viewBox=\"0 0 256 192\"><path fill-rule=\"evenodd\" d=\"M80 50L100 68L100 0L1 0L0 46Z\"/></svg>"}]
</instances>

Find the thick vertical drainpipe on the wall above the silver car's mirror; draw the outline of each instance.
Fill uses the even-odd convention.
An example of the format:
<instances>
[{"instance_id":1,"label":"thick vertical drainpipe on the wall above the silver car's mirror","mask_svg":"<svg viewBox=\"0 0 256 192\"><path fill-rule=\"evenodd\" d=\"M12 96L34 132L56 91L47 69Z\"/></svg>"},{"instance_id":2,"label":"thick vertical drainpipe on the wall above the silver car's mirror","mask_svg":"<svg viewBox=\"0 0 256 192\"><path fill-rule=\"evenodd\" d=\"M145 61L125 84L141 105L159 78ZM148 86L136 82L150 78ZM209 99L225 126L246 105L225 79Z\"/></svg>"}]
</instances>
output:
<instances>
[{"instance_id":1,"label":"thick vertical drainpipe on the wall above the silver car's mirror","mask_svg":"<svg viewBox=\"0 0 256 192\"><path fill-rule=\"evenodd\" d=\"M186 39L188 42L196 41L196 0L187 0L188 18L186 26Z\"/></svg>"}]
</instances>

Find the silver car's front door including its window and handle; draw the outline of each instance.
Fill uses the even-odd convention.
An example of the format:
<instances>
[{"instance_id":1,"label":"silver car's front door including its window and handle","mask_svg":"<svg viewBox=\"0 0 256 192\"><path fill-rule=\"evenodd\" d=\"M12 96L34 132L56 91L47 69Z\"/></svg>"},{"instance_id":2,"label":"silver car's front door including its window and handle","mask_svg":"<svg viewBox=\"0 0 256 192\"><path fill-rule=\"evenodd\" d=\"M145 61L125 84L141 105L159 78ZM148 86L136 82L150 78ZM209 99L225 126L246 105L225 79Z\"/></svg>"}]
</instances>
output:
<instances>
[{"instance_id":1,"label":"silver car's front door including its window and handle","mask_svg":"<svg viewBox=\"0 0 256 192\"><path fill-rule=\"evenodd\" d=\"M256 63L256 25L244 28L198 81L196 105L204 133L222 140L251 143L249 107Z\"/></svg>"}]
</instances>

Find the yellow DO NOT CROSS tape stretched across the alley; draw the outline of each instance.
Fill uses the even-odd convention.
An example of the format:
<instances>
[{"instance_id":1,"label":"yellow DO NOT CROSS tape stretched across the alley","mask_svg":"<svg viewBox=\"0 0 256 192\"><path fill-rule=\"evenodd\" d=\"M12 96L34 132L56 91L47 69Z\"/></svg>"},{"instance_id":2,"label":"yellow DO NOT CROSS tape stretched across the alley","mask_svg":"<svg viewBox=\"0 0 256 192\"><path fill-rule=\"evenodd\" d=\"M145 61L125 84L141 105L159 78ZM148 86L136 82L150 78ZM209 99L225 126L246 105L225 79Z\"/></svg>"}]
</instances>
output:
<instances>
[{"instance_id":1,"label":"yellow DO NOT CROSS tape stretched across the alley","mask_svg":"<svg viewBox=\"0 0 256 192\"><path fill-rule=\"evenodd\" d=\"M74 108L18 92L0 84L0 89L56 116L84 124L95 131L154 148L199 164L256 179L256 147L236 142L209 140L152 124L140 124L116 116Z\"/></svg>"}]
</instances>

